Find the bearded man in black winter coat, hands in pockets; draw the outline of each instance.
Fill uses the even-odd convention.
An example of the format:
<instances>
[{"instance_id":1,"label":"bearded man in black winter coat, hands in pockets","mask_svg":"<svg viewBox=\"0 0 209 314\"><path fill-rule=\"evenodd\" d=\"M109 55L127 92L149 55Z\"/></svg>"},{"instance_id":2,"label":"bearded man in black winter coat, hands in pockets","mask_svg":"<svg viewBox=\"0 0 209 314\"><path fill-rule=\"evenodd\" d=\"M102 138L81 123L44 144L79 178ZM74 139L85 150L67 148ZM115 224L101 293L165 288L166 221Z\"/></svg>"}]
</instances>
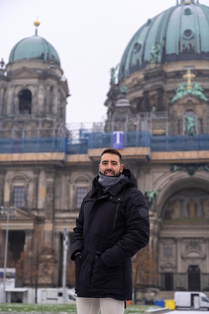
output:
<instances>
[{"instance_id":1,"label":"bearded man in black winter coat, hands in pockets","mask_svg":"<svg viewBox=\"0 0 209 314\"><path fill-rule=\"evenodd\" d=\"M78 314L124 313L132 299L131 257L148 241L148 207L136 178L118 150L105 149L71 246Z\"/></svg>"}]
</instances>

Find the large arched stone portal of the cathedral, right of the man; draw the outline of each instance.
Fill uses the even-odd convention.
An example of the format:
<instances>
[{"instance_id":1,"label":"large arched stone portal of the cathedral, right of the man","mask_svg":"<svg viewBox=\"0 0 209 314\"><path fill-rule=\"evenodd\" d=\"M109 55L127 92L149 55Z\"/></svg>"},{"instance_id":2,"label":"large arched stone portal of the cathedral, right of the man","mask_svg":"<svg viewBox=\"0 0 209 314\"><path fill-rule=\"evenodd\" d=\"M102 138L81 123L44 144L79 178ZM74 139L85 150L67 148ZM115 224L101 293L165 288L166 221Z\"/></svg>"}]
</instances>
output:
<instances>
[{"instance_id":1,"label":"large arched stone portal of the cathedral, right of the man","mask_svg":"<svg viewBox=\"0 0 209 314\"><path fill-rule=\"evenodd\" d=\"M208 218L203 209L209 217L208 180L209 174L203 170L194 172L192 176L184 171L176 171L161 177L154 187L159 221L155 244L158 250L158 271L164 289L188 289L195 283L195 278L207 272L208 249L204 235L207 234ZM192 191L191 198L185 193L187 191ZM172 211L171 203L174 197L179 202L175 204L175 212ZM187 205L190 199L192 202L189 208ZM183 206L181 201L184 201ZM165 206L170 206L172 214L167 220L163 216ZM185 209L190 210L190 216L184 213L186 217L182 217ZM200 236L200 232L203 236ZM192 271L188 276L189 267ZM196 273L193 271L195 267L199 269ZM187 275L183 276L182 273ZM201 286L205 285L202 282Z\"/></svg>"}]
</instances>

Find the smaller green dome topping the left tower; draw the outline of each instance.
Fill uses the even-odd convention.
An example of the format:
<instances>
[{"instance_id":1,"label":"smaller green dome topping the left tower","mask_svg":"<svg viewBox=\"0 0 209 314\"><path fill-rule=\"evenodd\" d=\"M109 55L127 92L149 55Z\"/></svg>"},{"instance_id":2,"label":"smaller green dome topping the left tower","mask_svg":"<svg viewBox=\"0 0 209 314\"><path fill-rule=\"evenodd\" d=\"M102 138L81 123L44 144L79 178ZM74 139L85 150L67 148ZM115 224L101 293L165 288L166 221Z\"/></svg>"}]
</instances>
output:
<instances>
[{"instance_id":1,"label":"smaller green dome topping the left tower","mask_svg":"<svg viewBox=\"0 0 209 314\"><path fill-rule=\"evenodd\" d=\"M54 47L38 35L22 39L12 49L9 62L23 59L38 59L48 62L54 60L60 66L60 59Z\"/></svg>"}]
</instances>

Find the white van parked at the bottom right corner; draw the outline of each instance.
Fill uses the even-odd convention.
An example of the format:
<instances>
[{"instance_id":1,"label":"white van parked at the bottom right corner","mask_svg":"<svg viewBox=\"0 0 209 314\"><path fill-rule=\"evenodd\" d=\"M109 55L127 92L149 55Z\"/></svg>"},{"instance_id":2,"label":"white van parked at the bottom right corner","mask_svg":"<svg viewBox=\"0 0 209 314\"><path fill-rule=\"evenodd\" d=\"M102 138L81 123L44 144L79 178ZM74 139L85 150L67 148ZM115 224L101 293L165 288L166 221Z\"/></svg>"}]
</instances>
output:
<instances>
[{"instance_id":1,"label":"white van parked at the bottom right corner","mask_svg":"<svg viewBox=\"0 0 209 314\"><path fill-rule=\"evenodd\" d=\"M177 291L174 292L176 309L207 309L209 310L209 298L202 292Z\"/></svg>"}]
</instances>

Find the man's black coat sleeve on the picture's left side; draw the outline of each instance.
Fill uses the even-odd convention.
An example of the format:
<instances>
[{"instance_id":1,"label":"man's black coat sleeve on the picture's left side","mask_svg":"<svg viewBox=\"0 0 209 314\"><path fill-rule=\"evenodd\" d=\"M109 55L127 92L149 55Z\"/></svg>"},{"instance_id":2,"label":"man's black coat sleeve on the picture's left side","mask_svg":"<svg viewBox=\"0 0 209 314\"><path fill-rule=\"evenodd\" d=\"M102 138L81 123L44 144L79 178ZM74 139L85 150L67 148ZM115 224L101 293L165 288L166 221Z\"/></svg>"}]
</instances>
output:
<instances>
[{"instance_id":1,"label":"man's black coat sleeve on the picture's left side","mask_svg":"<svg viewBox=\"0 0 209 314\"><path fill-rule=\"evenodd\" d=\"M83 226L84 226L84 203L81 205L80 213L76 219L76 227L73 229L73 239L71 243L71 259L75 259L75 254L83 251Z\"/></svg>"}]
</instances>

